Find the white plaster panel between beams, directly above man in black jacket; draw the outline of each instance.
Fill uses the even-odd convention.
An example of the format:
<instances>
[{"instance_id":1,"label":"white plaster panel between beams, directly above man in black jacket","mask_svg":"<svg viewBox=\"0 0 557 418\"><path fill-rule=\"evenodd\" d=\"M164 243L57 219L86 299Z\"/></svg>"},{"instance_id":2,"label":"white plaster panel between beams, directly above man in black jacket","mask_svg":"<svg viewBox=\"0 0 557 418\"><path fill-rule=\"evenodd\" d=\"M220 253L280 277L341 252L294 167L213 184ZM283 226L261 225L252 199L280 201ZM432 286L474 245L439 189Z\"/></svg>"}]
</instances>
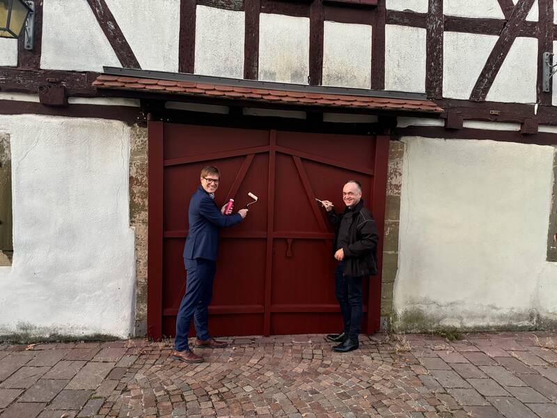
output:
<instances>
[{"instance_id":1,"label":"white plaster panel between beams, directly above man in black jacket","mask_svg":"<svg viewBox=\"0 0 557 418\"><path fill-rule=\"evenodd\" d=\"M371 26L324 22L323 85L371 87Z\"/></svg>"}]
</instances>

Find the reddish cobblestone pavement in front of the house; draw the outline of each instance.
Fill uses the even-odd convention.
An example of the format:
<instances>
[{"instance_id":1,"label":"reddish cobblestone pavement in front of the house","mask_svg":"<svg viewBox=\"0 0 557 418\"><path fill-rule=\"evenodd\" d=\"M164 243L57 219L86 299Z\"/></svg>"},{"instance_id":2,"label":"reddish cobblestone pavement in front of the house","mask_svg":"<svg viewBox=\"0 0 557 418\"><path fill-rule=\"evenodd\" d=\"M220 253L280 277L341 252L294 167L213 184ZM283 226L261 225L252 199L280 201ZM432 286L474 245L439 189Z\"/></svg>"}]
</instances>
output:
<instances>
[{"instance_id":1,"label":"reddish cobblestone pavement in front of the house","mask_svg":"<svg viewBox=\"0 0 557 418\"><path fill-rule=\"evenodd\" d=\"M0 418L557 417L557 333L230 341L195 365L143 339L0 345Z\"/></svg>"}]
</instances>

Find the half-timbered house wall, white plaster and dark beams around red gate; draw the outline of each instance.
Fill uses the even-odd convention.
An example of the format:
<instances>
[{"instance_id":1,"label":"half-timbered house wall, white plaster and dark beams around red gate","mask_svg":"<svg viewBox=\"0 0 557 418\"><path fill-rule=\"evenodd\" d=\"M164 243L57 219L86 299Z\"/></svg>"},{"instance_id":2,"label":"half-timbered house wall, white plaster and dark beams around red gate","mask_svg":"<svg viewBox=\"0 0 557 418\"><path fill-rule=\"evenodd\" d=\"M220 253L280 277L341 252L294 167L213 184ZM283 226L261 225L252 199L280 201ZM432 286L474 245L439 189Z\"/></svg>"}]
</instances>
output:
<instances>
[{"instance_id":1,"label":"half-timbered house wall, white plaster and dark beams around red gate","mask_svg":"<svg viewBox=\"0 0 557 418\"><path fill-rule=\"evenodd\" d=\"M125 336L134 329L134 303L136 330L145 328L146 144L145 132L135 124L145 123L150 110L139 100L102 97L105 93L91 83L103 65L425 93L446 110L441 118L399 117L394 126L394 119L379 117L378 129L391 127L397 155L391 161L397 187L388 201L398 202L388 208L384 231L390 251L384 269L390 271L384 270L389 282L384 283L383 315L395 318L400 329L538 326L540 320L557 320L556 257L544 256L555 253L557 233L551 163L557 144L557 77L551 91L542 91L542 53L557 51L556 9L557 0L378 0L372 7L334 0L36 0L33 51L24 50L21 40L0 39L0 115L26 115L0 116L0 132L17 144L15 253L13 266L0 268L0 298L10 300L0 304L0 318L6 318L0 333L23 320L52 325L57 332ZM49 98L40 98L38 91L60 86L68 106L63 100L45 106ZM228 114L221 104L177 98L158 105L173 116L180 111ZM281 116L288 125L309 113L254 104L236 115ZM191 113L187 118L194 119ZM377 117L326 113L323 120L369 123ZM142 150L132 151L132 173L126 160L131 125L141 131L132 134L131 146ZM101 149L106 150L102 155ZM37 150L43 160L69 164L66 171L58 167L56 183L45 185L52 199L46 214L42 206L27 206L22 199L36 194L24 179L53 176ZM91 160L85 162L89 152ZM97 169L111 180L100 176L94 183L91 173ZM139 194L125 185L129 176L139 179L132 182ZM88 182L104 185L96 201L76 192L88 190ZM54 201L66 194L79 195L88 217L70 213L63 225L32 223L39 234L33 229L31 237L27 219L50 219L48 213L57 210ZM63 209L71 212L71 207ZM107 224L95 233L116 234L116 240L104 240L104 247L95 241L81 250L86 221L100 211ZM471 219L471 213L477 216ZM517 230L524 233L518 242L511 233ZM56 233L65 237L64 245L77 249L77 266L52 247L52 240L36 239ZM119 260L111 258L115 265L96 262L107 254L119 254ZM84 264L86 259L91 265ZM132 295L135 284L138 291ZM56 299L65 294L61 288L69 289L69 302ZM32 314L24 310L29 294L38 301ZM106 325L92 322L99 316L95 303ZM72 311L83 314L70 318ZM44 322L49 316L51 325Z\"/></svg>"}]
</instances>

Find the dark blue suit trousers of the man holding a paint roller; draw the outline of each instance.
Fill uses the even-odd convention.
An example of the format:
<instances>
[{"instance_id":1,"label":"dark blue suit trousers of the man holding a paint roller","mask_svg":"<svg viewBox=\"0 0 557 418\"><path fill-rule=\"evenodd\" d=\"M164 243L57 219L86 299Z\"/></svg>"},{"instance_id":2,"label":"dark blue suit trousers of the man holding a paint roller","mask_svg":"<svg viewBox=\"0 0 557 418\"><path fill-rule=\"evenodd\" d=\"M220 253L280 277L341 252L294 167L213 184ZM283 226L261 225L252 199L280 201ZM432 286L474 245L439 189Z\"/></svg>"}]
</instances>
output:
<instances>
[{"instance_id":1,"label":"dark blue suit trousers of the man holding a paint roller","mask_svg":"<svg viewBox=\"0 0 557 418\"><path fill-rule=\"evenodd\" d=\"M207 307L211 303L214 273L217 272L217 263L205 258L194 260L184 258L184 263L187 270L187 286L176 318L176 338L174 341L176 351L189 349L187 332L189 331L191 318L194 318L197 338L201 340L210 339Z\"/></svg>"}]
</instances>

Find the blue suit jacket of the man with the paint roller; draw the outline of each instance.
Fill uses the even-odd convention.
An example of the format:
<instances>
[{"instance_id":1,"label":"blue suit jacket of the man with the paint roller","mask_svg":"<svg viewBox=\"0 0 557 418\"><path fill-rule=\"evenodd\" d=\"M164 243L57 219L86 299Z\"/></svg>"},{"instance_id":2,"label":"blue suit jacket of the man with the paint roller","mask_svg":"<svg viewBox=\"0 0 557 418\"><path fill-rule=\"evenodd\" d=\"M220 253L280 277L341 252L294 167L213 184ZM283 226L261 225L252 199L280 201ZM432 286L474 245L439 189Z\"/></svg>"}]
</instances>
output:
<instances>
[{"instance_id":1,"label":"blue suit jacket of the man with the paint roller","mask_svg":"<svg viewBox=\"0 0 557 418\"><path fill-rule=\"evenodd\" d=\"M239 213L223 215L214 199L202 186L189 201L189 233L184 247L184 258L217 259L219 229L242 222Z\"/></svg>"}]
</instances>

